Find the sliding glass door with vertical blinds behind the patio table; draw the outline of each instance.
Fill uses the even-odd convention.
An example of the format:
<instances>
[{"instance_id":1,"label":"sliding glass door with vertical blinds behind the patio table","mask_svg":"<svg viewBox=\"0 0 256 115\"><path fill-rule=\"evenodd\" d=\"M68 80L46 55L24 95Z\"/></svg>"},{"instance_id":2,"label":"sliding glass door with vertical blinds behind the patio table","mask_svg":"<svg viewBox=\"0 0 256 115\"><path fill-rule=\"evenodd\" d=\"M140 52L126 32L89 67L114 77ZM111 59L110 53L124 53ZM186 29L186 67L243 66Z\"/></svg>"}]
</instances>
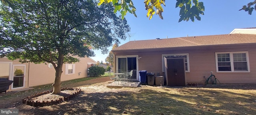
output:
<instances>
[{"instance_id":1,"label":"sliding glass door with vertical blinds behind the patio table","mask_svg":"<svg viewBox=\"0 0 256 115\"><path fill-rule=\"evenodd\" d=\"M137 80L138 56L117 56L116 73L131 74L131 79Z\"/></svg>"}]
</instances>

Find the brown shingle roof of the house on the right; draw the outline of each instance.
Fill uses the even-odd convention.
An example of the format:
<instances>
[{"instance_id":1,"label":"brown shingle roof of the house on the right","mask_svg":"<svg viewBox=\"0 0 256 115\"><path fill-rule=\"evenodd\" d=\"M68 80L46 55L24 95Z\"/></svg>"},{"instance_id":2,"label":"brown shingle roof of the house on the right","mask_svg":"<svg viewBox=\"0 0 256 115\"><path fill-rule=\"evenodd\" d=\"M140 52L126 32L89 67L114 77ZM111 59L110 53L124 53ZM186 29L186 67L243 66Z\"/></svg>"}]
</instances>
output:
<instances>
[{"instance_id":1,"label":"brown shingle roof of the house on the right","mask_svg":"<svg viewBox=\"0 0 256 115\"><path fill-rule=\"evenodd\" d=\"M127 42L126 44L123 44L112 51L248 43L256 43L256 34L223 34L168 39L165 38L160 40L138 40Z\"/></svg>"}]
</instances>

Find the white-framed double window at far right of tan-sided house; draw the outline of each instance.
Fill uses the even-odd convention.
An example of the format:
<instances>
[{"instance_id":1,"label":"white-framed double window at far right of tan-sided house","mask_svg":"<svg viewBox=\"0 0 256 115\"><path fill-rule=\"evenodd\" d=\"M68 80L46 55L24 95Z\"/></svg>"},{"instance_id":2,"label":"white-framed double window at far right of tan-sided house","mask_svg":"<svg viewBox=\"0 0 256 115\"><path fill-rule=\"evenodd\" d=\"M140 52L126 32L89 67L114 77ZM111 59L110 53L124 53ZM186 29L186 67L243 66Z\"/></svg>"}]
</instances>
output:
<instances>
[{"instance_id":1,"label":"white-framed double window at far right of tan-sided house","mask_svg":"<svg viewBox=\"0 0 256 115\"><path fill-rule=\"evenodd\" d=\"M221 71L249 71L248 52L216 53L216 68Z\"/></svg>"}]
</instances>

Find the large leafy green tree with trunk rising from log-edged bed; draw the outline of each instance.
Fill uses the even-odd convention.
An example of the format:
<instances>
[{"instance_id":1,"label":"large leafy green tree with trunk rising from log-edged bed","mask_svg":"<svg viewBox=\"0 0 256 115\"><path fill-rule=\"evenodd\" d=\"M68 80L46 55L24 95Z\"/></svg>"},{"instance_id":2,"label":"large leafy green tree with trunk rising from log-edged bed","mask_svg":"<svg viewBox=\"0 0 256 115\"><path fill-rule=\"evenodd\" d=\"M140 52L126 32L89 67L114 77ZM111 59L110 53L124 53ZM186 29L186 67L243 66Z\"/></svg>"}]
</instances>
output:
<instances>
[{"instance_id":1,"label":"large leafy green tree with trunk rising from log-edged bed","mask_svg":"<svg viewBox=\"0 0 256 115\"><path fill-rule=\"evenodd\" d=\"M94 56L90 46L107 53L130 31L110 4L97 6L94 0L12 0L12 5L0 5L0 54L22 63L52 63L52 94L60 93L63 63Z\"/></svg>"}]
</instances>

